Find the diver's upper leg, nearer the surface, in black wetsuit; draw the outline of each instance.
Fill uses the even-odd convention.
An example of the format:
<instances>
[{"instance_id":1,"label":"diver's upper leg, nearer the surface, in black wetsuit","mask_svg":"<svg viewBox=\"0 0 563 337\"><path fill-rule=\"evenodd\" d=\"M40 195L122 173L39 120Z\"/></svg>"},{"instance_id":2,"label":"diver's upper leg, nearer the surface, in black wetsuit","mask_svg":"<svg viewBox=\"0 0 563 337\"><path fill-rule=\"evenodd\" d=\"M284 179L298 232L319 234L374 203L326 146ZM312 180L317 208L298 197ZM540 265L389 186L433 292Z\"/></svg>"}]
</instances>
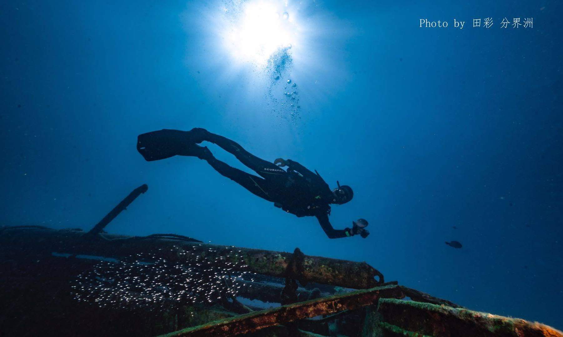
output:
<instances>
[{"instance_id":1,"label":"diver's upper leg, nearer the surface, in black wetsuit","mask_svg":"<svg viewBox=\"0 0 563 337\"><path fill-rule=\"evenodd\" d=\"M254 154L246 151L239 143L234 140L226 138L221 135L211 133L205 129L195 128L190 131L194 134L195 143L201 143L203 140L207 140L213 144L220 146L225 151L234 154L234 156L242 162L245 166L248 166L257 174L265 177L267 179L276 179L278 177L285 177L287 172L280 169L274 163L265 161L261 158L254 156Z\"/></svg>"}]
</instances>

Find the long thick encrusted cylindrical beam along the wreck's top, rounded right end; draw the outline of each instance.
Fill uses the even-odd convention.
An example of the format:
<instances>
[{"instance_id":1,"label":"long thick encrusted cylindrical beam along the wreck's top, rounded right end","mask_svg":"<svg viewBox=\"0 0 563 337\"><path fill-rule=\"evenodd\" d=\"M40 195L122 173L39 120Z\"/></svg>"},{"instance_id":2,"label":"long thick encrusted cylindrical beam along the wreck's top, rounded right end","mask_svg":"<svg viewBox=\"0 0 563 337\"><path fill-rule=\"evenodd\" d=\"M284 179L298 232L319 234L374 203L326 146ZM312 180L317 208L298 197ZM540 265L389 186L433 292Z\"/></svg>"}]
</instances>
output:
<instances>
[{"instance_id":1,"label":"long thick encrusted cylindrical beam along the wreck's top, rounded right end","mask_svg":"<svg viewBox=\"0 0 563 337\"><path fill-rule=\"evenodd\" d=\"M5 227L0 230L0 245L17 249L33 247L34 253L52 252L106 257L127 257L151 253L171 262L193 261L196 256L209 263L215 260L236 263L235 270L292 277L300 283L316 282L345 288L367 289L383 283L383 275L365 262L352 262L318 256L265 251L263 249L194 243L162 237L136 237L105 234L84 235L82 231ZM375 277L378 277L376 280Z\"/></svg>"}]
</instances>

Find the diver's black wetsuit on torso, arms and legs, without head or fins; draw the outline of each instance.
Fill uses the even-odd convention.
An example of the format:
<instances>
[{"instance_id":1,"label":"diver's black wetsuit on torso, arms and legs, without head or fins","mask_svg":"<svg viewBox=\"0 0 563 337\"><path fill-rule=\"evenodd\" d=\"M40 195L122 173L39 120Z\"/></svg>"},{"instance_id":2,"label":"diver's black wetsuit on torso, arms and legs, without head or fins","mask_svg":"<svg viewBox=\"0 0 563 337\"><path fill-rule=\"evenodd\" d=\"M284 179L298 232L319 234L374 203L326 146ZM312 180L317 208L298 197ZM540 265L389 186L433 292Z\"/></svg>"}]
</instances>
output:
<instances>
[{"instance_id":1,"label":"diver's black wetsuit on torso, arms and legs, without head or fins","mask_svg":"<svg viewBox=\"0 0 563 337\"><path fill-rule=\"evenodd\" d=\"M352 235L348 228L336 230L330 225L328 220L330 203L334 203L335 199L328 184L319 174L307 170L300 163L292 160L287 161L288 169L284 171L274 163L254 156L240 144L221 135L206 133L204 140L234 154L240 162L260 176L235 169L215 157L207 159L209 165L221 175L236 181L253 194L273 202L274 206L288 213L298 217L315 216L331 239Z\"/></svg>"}]
</instances>

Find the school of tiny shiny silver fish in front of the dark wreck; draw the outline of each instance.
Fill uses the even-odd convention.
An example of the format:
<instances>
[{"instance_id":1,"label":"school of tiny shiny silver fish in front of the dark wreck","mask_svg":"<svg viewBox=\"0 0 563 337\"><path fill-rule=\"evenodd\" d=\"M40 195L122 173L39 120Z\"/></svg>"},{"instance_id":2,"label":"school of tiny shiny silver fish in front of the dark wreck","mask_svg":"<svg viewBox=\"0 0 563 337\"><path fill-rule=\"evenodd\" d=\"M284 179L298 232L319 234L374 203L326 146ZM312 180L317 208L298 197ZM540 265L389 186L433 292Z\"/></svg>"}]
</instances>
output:
<instances>
[{"instance_id":1,"label":"school of tiny shiny silver fish in front of the dark wreck","mask_svg":"<svg viewBox=\"0 0 563 337\"><path fill-rule=\"evenodd\" d=\"M254 281L255 274L245 270L248 266L234 246L220 257L205 257L202 251L190 252L185 247L171 251L187 255L187 262L172 263L150 253L118 262L101 261L72 282L74 298L121 308L212 304L252 286L243 277ZM213 248L208 251L216 252Z\"/></svg>"}]
</instances>

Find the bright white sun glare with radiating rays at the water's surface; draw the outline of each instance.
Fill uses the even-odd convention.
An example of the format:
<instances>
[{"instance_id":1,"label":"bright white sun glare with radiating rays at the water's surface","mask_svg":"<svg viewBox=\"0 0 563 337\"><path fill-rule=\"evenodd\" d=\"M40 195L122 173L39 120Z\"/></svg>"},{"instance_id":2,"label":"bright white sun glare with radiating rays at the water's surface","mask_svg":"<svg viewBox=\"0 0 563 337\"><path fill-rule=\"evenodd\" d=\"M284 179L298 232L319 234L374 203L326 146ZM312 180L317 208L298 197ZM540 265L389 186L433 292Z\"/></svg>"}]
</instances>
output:
<instances>
[{"instance_id":1,"label":"bright white sun glare with radiating rays at the water's surface","mask_svg":"<svg viewBox=\"0 0 563 337\"><path fill-rule=\"evenodd\" d=\"M338 86L318 79L345 72L334 46L350 36L348 25L315 1L212 0L190 4L183 16L186 31L198 31L189 35L187 67L213 72L214 86L239 88L236 95L222 93L223 99L260 101L245 111L274 117L276 127L304 125L302 113L314 108L312 99L324 99Z\"/></svg>"}]
</instances>

